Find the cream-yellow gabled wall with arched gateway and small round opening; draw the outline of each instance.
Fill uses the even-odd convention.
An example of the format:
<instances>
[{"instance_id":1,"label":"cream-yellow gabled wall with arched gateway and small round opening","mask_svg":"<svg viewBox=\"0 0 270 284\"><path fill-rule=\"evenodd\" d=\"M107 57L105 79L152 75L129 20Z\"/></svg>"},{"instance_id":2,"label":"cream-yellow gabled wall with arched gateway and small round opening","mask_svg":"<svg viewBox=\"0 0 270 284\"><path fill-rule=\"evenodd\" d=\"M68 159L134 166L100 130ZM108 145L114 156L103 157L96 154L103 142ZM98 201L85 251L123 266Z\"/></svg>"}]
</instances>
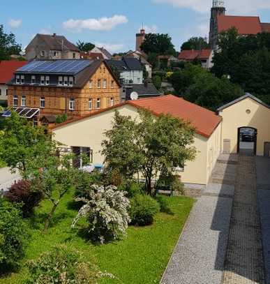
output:
<instances>
[{"instance_id":1,"label":"cream-yellow gabled wall with arched gateway and small round opening","mask_svg":"<svg viewBox=\"0 0 270 284\"><path fill-rule=\"evenodd\" d=\"M251 98L246 98L225 108L219 114L223 117L222 151L223 141L230 140L230 152L237 153L238 128L246 126L257 129L257 156L264 155L264 142L270 141L269 108Z\"/></svg>"}]
</instances>

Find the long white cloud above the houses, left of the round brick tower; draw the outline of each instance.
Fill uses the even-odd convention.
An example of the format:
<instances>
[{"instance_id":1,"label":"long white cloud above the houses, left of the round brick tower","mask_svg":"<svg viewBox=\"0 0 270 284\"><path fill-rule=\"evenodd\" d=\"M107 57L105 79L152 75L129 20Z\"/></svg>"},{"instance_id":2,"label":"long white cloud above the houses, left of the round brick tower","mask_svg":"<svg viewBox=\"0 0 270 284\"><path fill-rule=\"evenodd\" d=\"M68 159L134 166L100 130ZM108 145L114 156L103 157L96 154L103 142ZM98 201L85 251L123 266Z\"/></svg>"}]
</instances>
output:
<instances>
[{"instance_id":1,"label":"long white cloud above the houses, left of the round brick tower","mask_svg":"<svg viewBox=\"0 0 270 284\"><path fill-rule=\"evenodd\" d=\"M69 31L80 32L83 29L90 31L110 31L119 24L126 24L128 18L123 15L100 17L99 19L73 20L63 22L63 27Z\"/></svg>"}]
</instances>

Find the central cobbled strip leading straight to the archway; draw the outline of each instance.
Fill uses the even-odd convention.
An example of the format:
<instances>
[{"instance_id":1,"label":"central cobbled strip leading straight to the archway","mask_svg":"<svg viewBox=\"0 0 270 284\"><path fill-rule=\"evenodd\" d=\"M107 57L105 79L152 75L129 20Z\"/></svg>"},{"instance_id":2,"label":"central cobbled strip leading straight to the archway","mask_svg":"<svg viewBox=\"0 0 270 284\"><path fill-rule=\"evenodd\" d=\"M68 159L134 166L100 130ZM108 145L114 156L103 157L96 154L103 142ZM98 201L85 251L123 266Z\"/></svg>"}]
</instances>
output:
<instances>
[{"instance_id":1,"label":"central cobbled strip leading straight to the archway","mask_svg":"<svg viewBox=\"0 0 270 284\"><path fill-rule=\"evenodd\" d=\"M239 156L223 284L264 283L255 157Z\"/></svg>"}]
</instances>

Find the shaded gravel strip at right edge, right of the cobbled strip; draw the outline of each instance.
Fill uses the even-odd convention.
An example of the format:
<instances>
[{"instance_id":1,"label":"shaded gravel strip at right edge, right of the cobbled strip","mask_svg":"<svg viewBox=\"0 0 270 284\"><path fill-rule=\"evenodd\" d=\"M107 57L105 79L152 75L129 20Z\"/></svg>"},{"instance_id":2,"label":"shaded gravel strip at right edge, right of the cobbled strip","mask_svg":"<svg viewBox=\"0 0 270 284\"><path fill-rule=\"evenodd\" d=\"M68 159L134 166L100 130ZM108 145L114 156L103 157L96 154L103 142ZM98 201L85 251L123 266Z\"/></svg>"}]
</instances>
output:
<instances>
[{"instance_id":1,"label":"shaded gravel strip at right edge, right of the cobbled strip","mask_svg":"<svg viewBox=\"0 0 270 284\"><path fill-rule=\"evenodd\" d=\"M256 157L257 200L262 227L265 282L270 284L270 158Z\"/></svg>"}]
</instances>

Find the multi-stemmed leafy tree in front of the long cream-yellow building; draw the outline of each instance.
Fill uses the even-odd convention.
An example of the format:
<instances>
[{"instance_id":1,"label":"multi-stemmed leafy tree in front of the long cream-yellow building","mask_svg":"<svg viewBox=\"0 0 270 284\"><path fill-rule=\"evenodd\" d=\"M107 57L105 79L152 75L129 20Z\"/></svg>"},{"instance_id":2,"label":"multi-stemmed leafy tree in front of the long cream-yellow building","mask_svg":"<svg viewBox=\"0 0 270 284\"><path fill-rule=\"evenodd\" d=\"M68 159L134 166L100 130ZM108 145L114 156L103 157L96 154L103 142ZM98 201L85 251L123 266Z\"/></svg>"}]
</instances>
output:
<instances>
[{"instance_id":1,"label":"multi-stemmed leafy tree in front of the long cream-yellow building","mask_svg":"<svg viewBox=\"0 0 270 284\"><path fill-rule=\"evenodd\" d=\"M108 170L119 170L124 179L133 179L140 172L145 178L148 195L151 181L160 172L172 172L195 158L195 130L190 124L170 114L154 117L139 110L139 121L115 112L112 129L105 132L102 154Z\"/></svg>"}]
</instances>

